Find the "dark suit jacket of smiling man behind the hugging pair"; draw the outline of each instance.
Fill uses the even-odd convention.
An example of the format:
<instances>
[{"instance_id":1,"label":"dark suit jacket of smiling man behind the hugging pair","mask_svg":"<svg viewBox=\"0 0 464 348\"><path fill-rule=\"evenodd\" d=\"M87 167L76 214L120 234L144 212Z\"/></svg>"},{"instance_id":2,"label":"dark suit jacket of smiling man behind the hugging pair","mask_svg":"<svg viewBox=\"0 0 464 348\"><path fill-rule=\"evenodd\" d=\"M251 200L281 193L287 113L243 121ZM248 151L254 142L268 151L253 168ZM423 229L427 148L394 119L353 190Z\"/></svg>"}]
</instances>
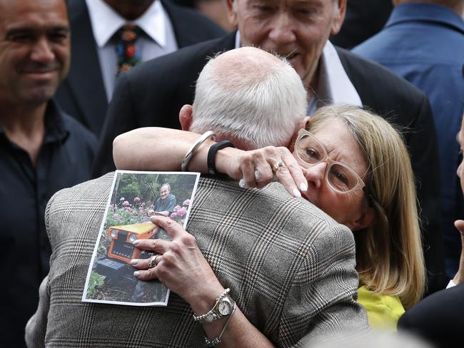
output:
<instances>
[{"instance_id":1,"label":"dark suit jacket of smiling man behind the hugging pair","mask_svg":"<svg viewBox=\"0 0 464 348\"><path fill-rule=\"evenodd\" d=\"M195 81L208 57L235 46L235 32L153 59L121 74L109 107L94 165L94 176L114 170L112 143L134 128L180 128L178 112L193 102ZM422 208L425 260L431 292L445 287L439 229L438 150L430 105L425 94L387 69L338 48L361 101L403 129L410 150ZM149 91L149 93L147 93Z\"/></svg>"}]
</instances>

